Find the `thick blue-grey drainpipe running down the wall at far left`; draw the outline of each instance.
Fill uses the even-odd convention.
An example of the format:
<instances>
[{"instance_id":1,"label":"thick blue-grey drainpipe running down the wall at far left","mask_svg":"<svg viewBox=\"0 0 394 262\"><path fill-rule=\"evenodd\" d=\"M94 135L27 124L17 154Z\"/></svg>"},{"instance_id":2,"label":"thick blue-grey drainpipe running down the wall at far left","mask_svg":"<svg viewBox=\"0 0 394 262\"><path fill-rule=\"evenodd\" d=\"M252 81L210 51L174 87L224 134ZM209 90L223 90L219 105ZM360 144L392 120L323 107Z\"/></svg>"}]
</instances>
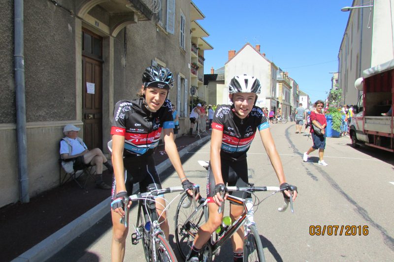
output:
<instances>
[{"instance_id":1,"label":"thick blue-grey drainpipe running down the wall at far left","mask_svg":"<svg viewBox=\"0 0 394 262\"><path fill-rule=\"evenodd\" d=\"M25 62L23 57L23 0L14 0L14 63L19 200L28 203L29 177L26 142Z\"/></svg>"}]
</instances>

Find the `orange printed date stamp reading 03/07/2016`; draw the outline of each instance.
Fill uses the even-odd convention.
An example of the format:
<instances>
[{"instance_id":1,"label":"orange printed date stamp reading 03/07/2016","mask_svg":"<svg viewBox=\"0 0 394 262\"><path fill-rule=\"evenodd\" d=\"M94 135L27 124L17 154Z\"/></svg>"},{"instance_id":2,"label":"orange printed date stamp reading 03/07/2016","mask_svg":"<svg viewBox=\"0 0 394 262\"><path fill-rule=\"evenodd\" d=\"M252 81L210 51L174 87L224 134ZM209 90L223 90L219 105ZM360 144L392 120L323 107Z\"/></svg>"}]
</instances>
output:
<instances>
[{"instance_id":1,"label":"orange printed date stamp reading 03/07/2016","mask_svg":"<svg viewBox=\"0 0 394 262\"><path fill-rule=\"evenodd\" d=\"M368 226L356 225L311 225L310 235L368 235Z\"/></svg>"}]
</instances>

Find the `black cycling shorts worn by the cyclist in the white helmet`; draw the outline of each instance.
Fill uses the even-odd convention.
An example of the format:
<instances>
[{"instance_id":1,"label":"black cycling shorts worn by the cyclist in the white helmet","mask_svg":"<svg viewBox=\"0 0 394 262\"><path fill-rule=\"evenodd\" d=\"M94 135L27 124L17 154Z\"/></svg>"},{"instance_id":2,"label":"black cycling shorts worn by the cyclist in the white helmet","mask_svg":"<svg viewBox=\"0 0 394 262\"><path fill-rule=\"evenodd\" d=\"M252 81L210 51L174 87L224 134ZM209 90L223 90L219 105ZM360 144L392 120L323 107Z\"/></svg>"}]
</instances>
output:
<instances>
[{"instance_id":1,"label":"black cycling shorts worn by the cyclist in the white helmet","mask_svg":"<svg viewBox=\"0 0 394 262\"><path fill-rule=\"evenodd\" d=\"M246 158L240 161L228 161L221 159L222 165L222 177L225 184L228 186L247 186L248 184L248 163ZM215 177L213 176L211 162L209 162L208 177L206 183L206 195L207 197L213 197L215 195ZM243 198L244 193L242 191L229 192L231 196Z\"/></svg>"}]
</instances>

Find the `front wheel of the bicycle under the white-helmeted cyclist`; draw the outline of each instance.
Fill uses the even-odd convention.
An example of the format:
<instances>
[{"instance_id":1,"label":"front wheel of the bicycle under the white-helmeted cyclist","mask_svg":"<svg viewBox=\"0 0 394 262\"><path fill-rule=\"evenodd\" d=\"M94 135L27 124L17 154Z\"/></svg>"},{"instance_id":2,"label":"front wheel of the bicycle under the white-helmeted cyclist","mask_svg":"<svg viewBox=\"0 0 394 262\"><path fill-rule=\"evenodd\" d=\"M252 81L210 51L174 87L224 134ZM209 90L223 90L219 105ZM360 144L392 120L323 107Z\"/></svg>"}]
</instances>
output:
<instances>
[{"instance_id":1,"label":"front wheel of the bicycle under the white-helmeted cyclist","mask_svg":"<svg viewBox=\"0 0 394 262\"><path fill-rule=\"evenodd\" d=\"M249 233L243 244L243 261L265 262L262 240L255 225L249 226Z\"/></svg>"}]
</instances>

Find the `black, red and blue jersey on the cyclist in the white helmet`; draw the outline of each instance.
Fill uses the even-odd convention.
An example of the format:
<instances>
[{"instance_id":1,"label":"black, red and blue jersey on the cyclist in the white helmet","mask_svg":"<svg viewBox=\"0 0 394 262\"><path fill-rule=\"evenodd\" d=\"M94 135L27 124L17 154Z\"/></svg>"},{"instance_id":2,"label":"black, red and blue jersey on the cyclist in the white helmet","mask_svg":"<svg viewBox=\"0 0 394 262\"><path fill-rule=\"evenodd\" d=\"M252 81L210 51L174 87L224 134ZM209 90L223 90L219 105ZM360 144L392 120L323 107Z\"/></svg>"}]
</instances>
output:
<instances>
[{"instance_id":1,"label":"black, red and blue jersey on the cyclist in the white helmet","mask_svg":"<svg viewBox=\"0 0 394 262\"><path fill-rule=\"evenodd\" d=\"M223 131L220 155L232 161L245 159L257 128L263 130L268 127L267 118L257 106L253 106L249 115L241 119L236 115L234 105L220 105L212 121L213 129Z\"/></svg>"}]
</instances>

